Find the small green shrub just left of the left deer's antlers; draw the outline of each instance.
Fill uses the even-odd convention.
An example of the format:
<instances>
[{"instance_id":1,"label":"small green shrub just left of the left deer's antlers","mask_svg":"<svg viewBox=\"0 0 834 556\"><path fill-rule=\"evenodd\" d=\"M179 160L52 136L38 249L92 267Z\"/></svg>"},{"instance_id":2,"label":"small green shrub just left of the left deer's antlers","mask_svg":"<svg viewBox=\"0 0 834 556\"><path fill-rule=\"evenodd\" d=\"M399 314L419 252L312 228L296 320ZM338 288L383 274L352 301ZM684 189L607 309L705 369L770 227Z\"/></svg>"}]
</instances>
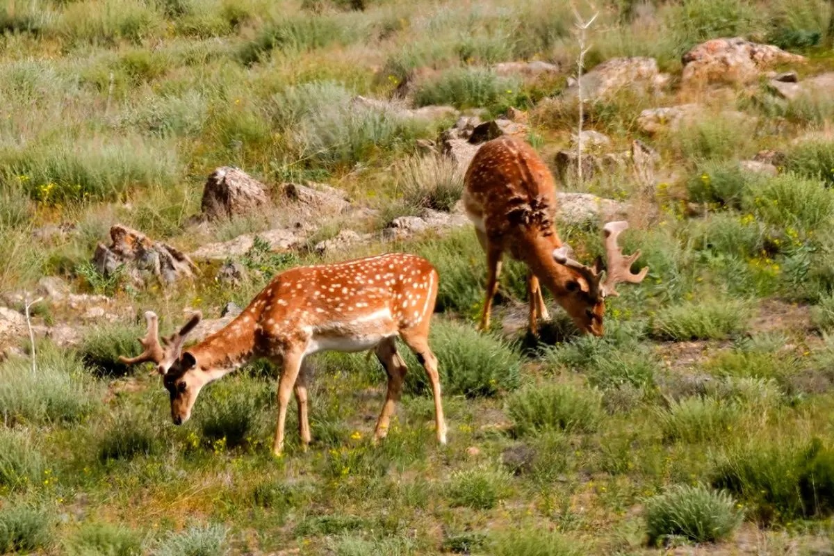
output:
<instances>
[{"instance_id":1,"label":"small green shrub just left of the left deer's antlers","mask_svg":"<svg viewBox=\"0 0 834 556\"><path fill-rule=\"evenodd\" d=\"M101 374L118 375L128 372L119 356L136 357L142 351L137 338L143 338L147 328L140 324L97 326L84 334L78 354L90 368Z\"/></svg>"}]
</instances>

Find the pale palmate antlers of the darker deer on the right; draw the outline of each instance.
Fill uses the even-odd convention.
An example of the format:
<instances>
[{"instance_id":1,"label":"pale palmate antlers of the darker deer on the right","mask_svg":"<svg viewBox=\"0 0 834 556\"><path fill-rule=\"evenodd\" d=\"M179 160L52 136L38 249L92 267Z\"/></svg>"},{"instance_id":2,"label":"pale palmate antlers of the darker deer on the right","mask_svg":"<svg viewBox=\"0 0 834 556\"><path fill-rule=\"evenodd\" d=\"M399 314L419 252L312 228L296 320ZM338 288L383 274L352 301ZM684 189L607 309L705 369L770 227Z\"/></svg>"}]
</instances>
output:
<instances>
[{"instance_id":1,"label":"pale palmate antlers of the darker deer on the right","mask_svg":"<svg viewBox=\"0 0 834 556\"><path fill-rule=\"evenodd\" d=\"M641 283L649 268L643 268L639 273L631 272L631 264L640 257L640 250L638 249L628 257L622 253L622 248L617 245L617 238L620 233L628 228L628 223L623 220L616 222L609 222L602 228L602 235L605 238L605 253L607 260L607 267L605 270L601 268L601 261L597 259L594 267L586 266L585 264L576 261L572 258L570 248L560 247L553 252L553 258L556 263L564 264L568 268L573 268L580 273L585 282L588 283L589 295L593 298L606 298L608 296L617 297L615 286L621 282L627 283Z\"/></svg>"}]
</instances>

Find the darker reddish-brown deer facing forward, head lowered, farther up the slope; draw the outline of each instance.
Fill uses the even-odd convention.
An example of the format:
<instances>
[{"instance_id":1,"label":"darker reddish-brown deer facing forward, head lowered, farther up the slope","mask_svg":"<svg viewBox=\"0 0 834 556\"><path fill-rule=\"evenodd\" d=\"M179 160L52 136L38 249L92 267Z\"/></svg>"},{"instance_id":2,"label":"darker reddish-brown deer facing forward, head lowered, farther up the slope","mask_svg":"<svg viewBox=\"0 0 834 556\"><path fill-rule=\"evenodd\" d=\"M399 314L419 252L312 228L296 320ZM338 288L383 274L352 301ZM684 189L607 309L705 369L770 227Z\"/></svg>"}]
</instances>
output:
<instances>
[{"instance_id":1,"label":"darker reddish-brown deer facing forward, head lowered, farther up the slope","mask_svg":"<svg viewBox=\"0 0 834 556\"><path fill-rule=\"evenodd\" d=\"M616 296L620 282L640 283L649 269L631 273L631 263L640 251L623 256L617 236L628 228L625 222L610 222L603 228L607 270L601 258L592 267L571 258L570 248L556 233L555 184L550 169L524 141L503 136L475 153L466 171L464 206L475 224L486 252L487 283L480 328L490 326L492 298L498 289L501 258L508 251L529 269L530 332L536 333L536 318L549 318L539 282L545 284L582 332L601 336L605 298Z\"/></svg>"}]
</instances>

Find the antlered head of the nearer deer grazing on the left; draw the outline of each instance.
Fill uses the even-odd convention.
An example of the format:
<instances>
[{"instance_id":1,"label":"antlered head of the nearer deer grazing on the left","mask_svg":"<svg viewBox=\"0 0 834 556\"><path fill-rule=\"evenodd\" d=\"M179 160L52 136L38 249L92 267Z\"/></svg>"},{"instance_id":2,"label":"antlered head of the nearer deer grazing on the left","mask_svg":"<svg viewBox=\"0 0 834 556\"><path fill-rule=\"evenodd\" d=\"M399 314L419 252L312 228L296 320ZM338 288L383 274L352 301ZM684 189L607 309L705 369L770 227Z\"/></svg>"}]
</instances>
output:
<instances>
[{"instance_id":1,"label":"antlered head of the nearer deer grazing on the left","mask_svg":"<svg viewBox=\"0 0 834 556\"><path fill-rule=\"evenodd\" d=\"M179 332L159 341L159 318L156 313L145 313L148 323L148 333L139 338L144 351L137 357L120 357L119 361L126 365L134 365L150 361L156 366L157 373L162 375L163 385L171 395L171 419L174 424L182 424L191 416L191 408L197 400L197 394L208 382L198 373L197 359L190 352L183 353L183 344L194 327L203 318L199 311L194 313Z\"/></svg>"}]
</instances>

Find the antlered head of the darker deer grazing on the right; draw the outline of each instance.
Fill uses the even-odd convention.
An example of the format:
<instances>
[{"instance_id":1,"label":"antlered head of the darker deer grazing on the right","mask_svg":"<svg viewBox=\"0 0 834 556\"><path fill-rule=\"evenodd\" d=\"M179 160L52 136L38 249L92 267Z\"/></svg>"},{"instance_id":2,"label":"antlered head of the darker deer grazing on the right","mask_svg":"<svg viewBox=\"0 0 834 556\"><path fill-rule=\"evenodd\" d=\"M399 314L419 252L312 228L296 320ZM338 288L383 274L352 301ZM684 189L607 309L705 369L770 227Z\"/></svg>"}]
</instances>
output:
<instances>
[{"instance_id":1,"label":"antlered head of the darker deer grazing on the right","mask_svg":"<svg viewBox=\"0 0 834 556\"><path fill-rule=\"evenodd\" d=\"M640 257L640 250L629 256L624 256L617 244L617 237L628 228L623 221L610 222L602 228L605 238L605 254L607 263L603 265L598 257L594 266L589 267L573 258L569 247L563 246L553 252L556 263L564 265L575 273L575 279L565 282L566 294L560 296L559 302L565 311L573 318L576 327L585 333L601 336L603 333L602 318L605 314L605 298L616 297L615 287L618 283L641 283L649 268L643 268L639 273L631 272L631 264Z\"/></svg>"}]
</instances>

